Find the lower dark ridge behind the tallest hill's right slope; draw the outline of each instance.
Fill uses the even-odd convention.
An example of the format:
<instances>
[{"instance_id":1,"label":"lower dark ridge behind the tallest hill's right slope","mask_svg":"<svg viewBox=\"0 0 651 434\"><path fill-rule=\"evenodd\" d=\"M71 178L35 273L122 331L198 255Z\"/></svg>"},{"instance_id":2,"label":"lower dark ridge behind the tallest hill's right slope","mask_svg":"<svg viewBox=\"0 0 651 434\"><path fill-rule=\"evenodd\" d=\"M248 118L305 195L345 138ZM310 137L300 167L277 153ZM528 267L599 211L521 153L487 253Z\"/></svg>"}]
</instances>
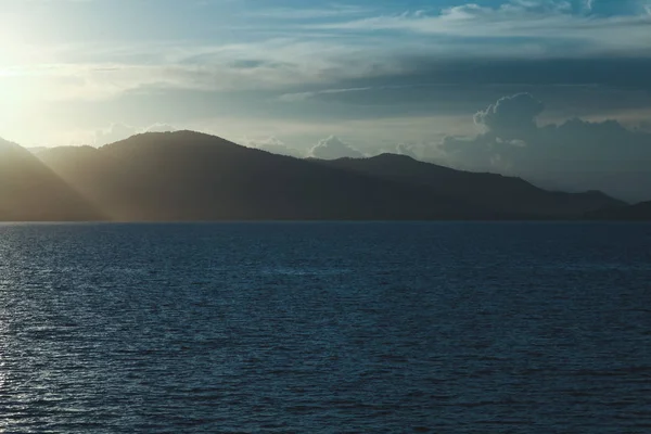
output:
<instances>
[{"instance_id":1,"label":"lower dark ridge behind the tallest hill's right slope","mask_svg":"<svg viewBox=\"0 0 651 434\"><path fill-rule=\"evenodd\" d=\"M407 155L382 154L323 164L381 179L427 187L435 194L457 197L470 205L502 214L572 218L582 213L624 205L624 202L598 191L550 192L521 178L456 170Z\"/></svg>"}]
</instances>

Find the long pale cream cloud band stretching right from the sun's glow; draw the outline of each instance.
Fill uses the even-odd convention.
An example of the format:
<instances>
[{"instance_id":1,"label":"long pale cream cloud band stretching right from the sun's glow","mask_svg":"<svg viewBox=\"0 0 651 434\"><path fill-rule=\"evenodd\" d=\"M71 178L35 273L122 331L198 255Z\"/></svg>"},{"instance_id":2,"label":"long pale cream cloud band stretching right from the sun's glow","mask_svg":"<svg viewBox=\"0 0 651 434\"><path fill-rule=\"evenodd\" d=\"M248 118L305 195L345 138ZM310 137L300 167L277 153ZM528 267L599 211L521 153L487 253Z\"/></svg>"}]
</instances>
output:
<instances>
[{"instance_id":1,"label":"long pale cream cloud band stretching right from the sun's glow","mask_svg":"<svg viewBox=\"0 0 651 434\"><path fill-rule=\"evenodd\" d=\"M166 47L133 43L111 49L101 44L71 46L62 49L58 58L59 61L51 59L49 63L0 65L0 77L15 77L25 89L38 88L40 100L69 101L106 100L127 92L169 89L282 90L400 71L386 56L372 61L383 58L376 49L299 38L225 46L182 42Z\"/></svg>"}]
</instances>

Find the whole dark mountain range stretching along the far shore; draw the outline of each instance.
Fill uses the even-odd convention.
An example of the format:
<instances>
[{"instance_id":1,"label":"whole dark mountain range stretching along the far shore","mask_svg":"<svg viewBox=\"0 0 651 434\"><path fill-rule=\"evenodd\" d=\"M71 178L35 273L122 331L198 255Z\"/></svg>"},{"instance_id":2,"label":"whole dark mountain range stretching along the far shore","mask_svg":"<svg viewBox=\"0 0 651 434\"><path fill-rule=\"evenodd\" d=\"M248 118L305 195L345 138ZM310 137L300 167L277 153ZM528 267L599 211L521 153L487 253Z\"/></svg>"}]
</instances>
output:
<instances>
[{"instance_id":1,"label":"whole dark mountain range stretching along the far shore","mask_svg":"<svg viewBox=\"0 0 651 434\"><path fill-rule=\"evenodd\" d=\"M411 157L301 159L193 131L37 154L0 140L2 221L651 219L598 191Z\"/></svg>"}]
</instances>

